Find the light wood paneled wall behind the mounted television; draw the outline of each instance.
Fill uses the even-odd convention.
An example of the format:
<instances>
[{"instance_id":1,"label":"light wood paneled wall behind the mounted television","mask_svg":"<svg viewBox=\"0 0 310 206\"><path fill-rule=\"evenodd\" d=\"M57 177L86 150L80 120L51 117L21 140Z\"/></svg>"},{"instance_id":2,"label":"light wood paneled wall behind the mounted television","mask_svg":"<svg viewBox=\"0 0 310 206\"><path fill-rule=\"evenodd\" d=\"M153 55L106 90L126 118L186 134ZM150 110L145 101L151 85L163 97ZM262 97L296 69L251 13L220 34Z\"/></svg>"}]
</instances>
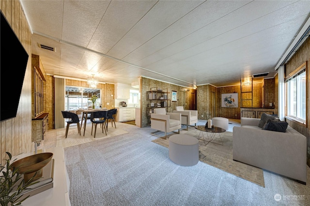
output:
<instances>
[{"instance_id":1,"label":"light wood paneled wall behind the mounted television","mask_svg":"<svg viewBox=\"0 0 310 206\"><path fill-rule=\"evenodd\" d=\"M0 9L29 55L17 116L0 122L0 158L4 164L6 151L12 155L31 151L31 30L18 0L0 0Z\"/></svg>"}]
</instances>

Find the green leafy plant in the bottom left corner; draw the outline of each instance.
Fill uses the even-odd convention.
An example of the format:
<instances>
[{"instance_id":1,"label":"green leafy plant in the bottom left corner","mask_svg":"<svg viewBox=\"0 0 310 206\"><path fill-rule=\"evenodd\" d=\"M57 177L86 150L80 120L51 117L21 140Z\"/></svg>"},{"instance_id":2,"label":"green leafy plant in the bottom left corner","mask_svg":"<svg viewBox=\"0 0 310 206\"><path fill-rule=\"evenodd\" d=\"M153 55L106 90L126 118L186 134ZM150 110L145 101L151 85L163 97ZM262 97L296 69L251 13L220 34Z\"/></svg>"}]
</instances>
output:
<instances>
[{"instance_id":1,"label":"green leafy plant in the bottom left corner","mask_svg":"<svg viewBox=\"0 0 310 206\"><path fill-rule=\"evenodd\" d=\"M21 205L30 196L22 197L23 191L29 190L29 186L38 182L33 181L36 174L25 182L23 173L18 172L18 167L12 167L10 164L12 159L11 153L6 152L6 154L9 156L9 159L5 160L6 166L0 164L0 203L1 206ZM20 179L22 180L19 182Z\"/></svg>"}]
</instances>

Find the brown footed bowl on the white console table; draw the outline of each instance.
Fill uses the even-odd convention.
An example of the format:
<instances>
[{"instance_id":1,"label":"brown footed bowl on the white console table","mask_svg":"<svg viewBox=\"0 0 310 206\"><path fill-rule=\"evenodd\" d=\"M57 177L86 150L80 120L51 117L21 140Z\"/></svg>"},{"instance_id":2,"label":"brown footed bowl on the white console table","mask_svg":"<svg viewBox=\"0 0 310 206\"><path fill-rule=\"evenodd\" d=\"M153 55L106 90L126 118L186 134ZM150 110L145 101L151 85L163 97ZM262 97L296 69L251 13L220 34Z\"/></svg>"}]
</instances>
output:
<instances>
[{"instance_id":1,"label":"brown footed bowl on the white console table","mask_svg":"<svg viewBox=\"0 0 310 206\"><path fill-rule=\"evenodd\" d=\"M11 164L12 167L18 167L18 172L24 174L25 181L28 181L37 172L34 179L42 177L42 168L52 159L53 153L44 152L31 155Z\"/></svg>"}]
</instances>

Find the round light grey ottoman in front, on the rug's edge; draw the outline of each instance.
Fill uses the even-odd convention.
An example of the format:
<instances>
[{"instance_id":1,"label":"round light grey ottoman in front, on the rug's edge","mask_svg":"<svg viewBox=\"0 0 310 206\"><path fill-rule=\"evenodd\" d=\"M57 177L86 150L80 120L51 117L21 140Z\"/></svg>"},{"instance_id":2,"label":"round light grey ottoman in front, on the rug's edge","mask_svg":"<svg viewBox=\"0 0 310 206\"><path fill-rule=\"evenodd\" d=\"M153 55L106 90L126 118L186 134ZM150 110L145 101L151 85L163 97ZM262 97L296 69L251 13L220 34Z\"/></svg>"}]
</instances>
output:
<instances>
[{"instance_id":1,"label":"round light grey ottoman in front, on the rug's edge","mask_svg":"<svg viewBox=\"0 0 310 206\"><path fill-rule=\"evenodd\" d=\"M169 137L169 158L181 166L193 166L199 161L199 141L187 134Z\"/></svg>"}]
</instances>

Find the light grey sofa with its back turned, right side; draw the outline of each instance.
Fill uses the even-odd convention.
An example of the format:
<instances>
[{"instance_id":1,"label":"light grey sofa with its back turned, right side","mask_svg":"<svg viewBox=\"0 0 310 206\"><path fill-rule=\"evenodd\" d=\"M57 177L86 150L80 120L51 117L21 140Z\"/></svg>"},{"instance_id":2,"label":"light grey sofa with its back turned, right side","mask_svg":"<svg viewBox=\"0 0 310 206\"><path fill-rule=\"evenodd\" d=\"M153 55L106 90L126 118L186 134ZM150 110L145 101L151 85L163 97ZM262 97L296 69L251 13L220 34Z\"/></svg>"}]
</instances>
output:
<instances>
[{"instance_id":1,"label":"light grey sofa with its back turned, right side","mask_svg":"<svg viewBox=\"0 0 310 206\"><path fill-rule=\"evenodd\" d=\"M262 130L259 118L241 118L233 127L233 160L307 181L307 138L290 126L286 132Z\"/></svg>"}]
</instances>

